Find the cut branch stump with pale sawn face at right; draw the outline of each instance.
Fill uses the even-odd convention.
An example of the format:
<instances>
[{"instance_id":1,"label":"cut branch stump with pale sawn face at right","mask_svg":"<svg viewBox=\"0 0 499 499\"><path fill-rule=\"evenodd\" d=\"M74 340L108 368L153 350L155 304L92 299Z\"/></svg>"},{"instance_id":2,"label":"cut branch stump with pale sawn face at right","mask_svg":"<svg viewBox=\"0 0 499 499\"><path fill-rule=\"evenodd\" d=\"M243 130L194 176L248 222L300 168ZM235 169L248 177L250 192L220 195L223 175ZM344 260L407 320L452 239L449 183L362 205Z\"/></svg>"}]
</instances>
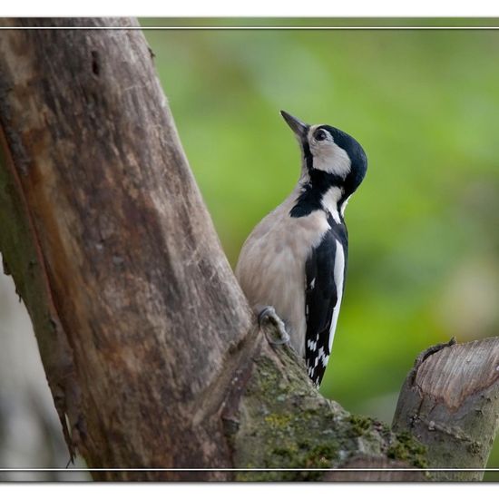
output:
<instances>
[{"instance_id":1,"label":"cut branch stump with pale sawn face at right","mask_svg":"<svg viewBox=\"0 0 499 499\"><path fill-rule=\"evenodd\" d=\"M484 468L499 426L499 338L442 345L418 357L394 416L431 450L432 468ZM484 472L435 472L435 480L481 480Z\"/></svg>"}]
</instances>

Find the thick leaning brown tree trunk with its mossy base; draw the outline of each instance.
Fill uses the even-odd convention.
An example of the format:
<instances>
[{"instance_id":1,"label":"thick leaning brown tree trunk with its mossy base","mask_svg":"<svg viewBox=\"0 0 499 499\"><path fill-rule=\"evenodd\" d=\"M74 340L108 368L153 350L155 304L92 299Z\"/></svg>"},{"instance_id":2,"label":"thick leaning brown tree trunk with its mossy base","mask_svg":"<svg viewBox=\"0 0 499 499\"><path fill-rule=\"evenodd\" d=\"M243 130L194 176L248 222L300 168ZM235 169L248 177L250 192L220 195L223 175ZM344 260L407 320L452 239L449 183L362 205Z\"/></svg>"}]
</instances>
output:
<instances>
[{"instance_id":1,"label":"thick leaning brown tree trunk with its mossy base","mask_svg":"<svg viewBox=\"0 0 499 499\"><path fill-rule=\"evenodd\" d=\"M255 327L137 24L60 24L122 29L0 34L0 250L72 452L93 468L222 470L98 479L426 465L414 438L325 400Z\"/></svg>"}]
</instances>

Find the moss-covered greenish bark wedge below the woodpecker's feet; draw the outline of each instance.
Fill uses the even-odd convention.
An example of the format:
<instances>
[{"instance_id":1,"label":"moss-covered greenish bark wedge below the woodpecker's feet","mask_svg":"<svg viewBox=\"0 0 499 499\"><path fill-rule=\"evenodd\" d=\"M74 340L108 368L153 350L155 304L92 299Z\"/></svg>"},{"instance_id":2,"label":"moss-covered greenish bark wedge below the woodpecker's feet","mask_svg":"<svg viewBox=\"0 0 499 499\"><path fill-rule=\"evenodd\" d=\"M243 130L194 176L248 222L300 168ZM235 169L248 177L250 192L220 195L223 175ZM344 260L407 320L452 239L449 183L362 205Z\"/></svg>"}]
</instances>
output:
<instances>
[{"instance_id":1,"label":"moss-covered greenish bark wedge below the woodpecker's feet","mask_svg":"<svg viewBox=\"0 0 499 499\"><path fill-rule=\"evenodd\" d=\"M222 419L235 467L268 470L240 472L238 480L331 480L334 472L323 468L352 467L356 459L367 468L392 459L402 467L426 466L423 445L320 396L294 351L269 347L265 339L236 373Z\"/></svg>"}]
</instances>

